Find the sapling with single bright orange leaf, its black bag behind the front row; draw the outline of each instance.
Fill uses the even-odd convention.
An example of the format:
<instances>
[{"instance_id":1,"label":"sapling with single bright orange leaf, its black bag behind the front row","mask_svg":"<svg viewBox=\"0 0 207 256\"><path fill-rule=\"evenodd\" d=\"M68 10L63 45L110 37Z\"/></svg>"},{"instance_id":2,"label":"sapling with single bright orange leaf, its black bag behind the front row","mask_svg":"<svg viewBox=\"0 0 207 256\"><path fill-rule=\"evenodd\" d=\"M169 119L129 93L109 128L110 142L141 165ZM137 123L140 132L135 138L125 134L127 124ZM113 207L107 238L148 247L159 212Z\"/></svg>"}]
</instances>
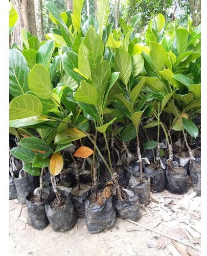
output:
<instances>
[{"instance_id":1,"label":"sapling with single bright orange leaf, its black bag behind the front row","mask_svg":"<svg viewBox=\"0 0 207 256\"><path fill-rule=\"evenodd\" d=\"M71 153L71 152L70 152ZM77 185L72 188L71 191L71 201L73 203L73 206L76 210L76 214L79 217L85 217L85 199L88 194L90 194L91 186L88 184L81 184L79 175L85 172L85 161L86 158L92 155L94 152L87 146L81 146L78 148L78 150L74 153L74 155L71 153L71 157L73 159L75 170L76 170L76 180ZM78 168L77 161L74 157L77 158L83 158L83 165L82 168Z\"/></svg>"}]
</instances>

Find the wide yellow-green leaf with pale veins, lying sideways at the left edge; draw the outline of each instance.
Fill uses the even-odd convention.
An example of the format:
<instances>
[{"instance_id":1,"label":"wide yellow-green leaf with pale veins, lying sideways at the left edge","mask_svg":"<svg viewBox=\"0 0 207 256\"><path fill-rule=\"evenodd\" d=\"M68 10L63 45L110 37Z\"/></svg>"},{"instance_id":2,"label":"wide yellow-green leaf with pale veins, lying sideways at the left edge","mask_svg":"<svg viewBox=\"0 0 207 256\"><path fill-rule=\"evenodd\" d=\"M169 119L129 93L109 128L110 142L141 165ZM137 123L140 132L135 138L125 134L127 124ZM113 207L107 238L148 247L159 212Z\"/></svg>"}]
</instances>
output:
<instances>
[{"instance_id":1,"label":"wide yellow-green leaf with pale veins, lying sideways at the left edge","mask_svg":"<svg viewBox=\"0 0 207 256\"><path fill-rule=\"evenodd\" d=\"M42 104L40 100L33 95L20 95L14 98L9 106L10 120L27 118L40 115L42 113Z\"/></svg>"}]
</instances>

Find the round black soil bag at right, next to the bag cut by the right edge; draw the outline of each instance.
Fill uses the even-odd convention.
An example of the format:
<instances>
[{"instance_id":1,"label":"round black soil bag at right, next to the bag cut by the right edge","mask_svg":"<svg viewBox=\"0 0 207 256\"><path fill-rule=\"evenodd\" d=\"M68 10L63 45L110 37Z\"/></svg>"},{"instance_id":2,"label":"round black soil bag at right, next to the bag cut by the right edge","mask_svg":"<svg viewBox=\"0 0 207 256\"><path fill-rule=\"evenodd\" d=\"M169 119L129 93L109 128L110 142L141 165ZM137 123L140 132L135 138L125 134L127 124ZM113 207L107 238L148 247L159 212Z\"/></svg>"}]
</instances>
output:
<instances>
[{"instance_id":1,"label":"round black soil bag at right, next to the bag cut by the right edge","mask_svg":"<svg viewBox=\"0 0 207 256\"><path fill-rule=\"evenodd\" d=\"M188 192L188 174L185 167L173 167L166 170L166 188L172 194L185 194Z\"/></svg>"}]
</instances>

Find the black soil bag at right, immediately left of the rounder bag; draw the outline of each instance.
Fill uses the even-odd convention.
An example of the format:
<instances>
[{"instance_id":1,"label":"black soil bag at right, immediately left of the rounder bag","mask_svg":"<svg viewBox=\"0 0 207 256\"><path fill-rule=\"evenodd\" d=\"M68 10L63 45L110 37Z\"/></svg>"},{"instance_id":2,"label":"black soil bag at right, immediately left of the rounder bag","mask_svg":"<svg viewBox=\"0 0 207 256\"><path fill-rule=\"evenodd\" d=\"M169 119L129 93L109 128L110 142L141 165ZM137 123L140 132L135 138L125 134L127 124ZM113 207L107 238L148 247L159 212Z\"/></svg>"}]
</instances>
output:
<instances>
[{"instance_id":1,"label":"black soil bag at right, immediately left of the rounder bag","mask_svg":"<svg viewBox=\"0 0 207 256\"><path fill-rule=\"evenodd\" d=\"M162 192L165 189L164 170L155 164L144 166L145 174L150 177L150 185L153 192Z\"/></svg>"}]
</instances>

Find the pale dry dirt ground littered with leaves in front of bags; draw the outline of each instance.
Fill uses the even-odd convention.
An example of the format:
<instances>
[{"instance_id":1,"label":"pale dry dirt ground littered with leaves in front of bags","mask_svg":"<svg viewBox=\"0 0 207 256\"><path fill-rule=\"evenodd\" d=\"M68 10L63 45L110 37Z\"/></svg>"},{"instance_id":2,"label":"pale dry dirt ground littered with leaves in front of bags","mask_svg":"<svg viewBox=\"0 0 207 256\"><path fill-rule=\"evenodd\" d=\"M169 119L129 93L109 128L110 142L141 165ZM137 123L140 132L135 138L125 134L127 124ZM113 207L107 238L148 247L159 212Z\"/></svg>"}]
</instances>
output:
<instances>
[{"instance_id":1,"label":"pale dry dirt ground littered with leaves in front of bags","mask_svg":"<svg viewBox=\"0 0 207 256\"><path fill-rule=\"evenodd\" d=\"M74 256L196 256L200 255L200 197L193 188L186 195L168 191L151 193L151 203L142 209L137 226L117 218L115 225L98 234L87 231L79 218L68 232L54 232L50 225L35 230L27 224L27 207L10 200L11 255L74 255ZM158 233L181 240L179 243ZM192 247L184 244L190 244Z\"/></svg>"}]
</instances>

